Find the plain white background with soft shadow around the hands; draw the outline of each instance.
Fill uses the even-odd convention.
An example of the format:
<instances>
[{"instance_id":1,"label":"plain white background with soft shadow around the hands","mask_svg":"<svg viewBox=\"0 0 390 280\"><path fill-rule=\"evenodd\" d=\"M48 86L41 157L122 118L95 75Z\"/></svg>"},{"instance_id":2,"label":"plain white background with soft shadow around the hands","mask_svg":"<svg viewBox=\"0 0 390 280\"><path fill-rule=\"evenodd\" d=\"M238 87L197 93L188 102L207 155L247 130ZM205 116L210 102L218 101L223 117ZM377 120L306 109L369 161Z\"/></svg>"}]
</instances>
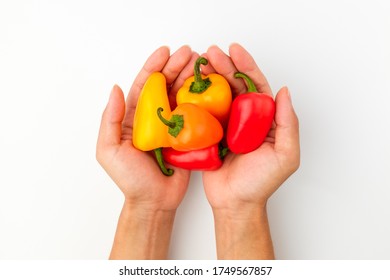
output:
<instances>
[{"instance_id":1,"label":"plain white background with soft shadow around the hands","mask_svg":"<svg viewBox=\"0 0 390 280\"><path fill-rule=\"evenodd\" d=\"M113 84L159 46L239 42L288 85L302 163L273 195L279 259L390 259L386 1L0 1L0 259L106 259L123 197L95 160ZM245 174L243 174L245 176ZM215 259L193 173L172 259Z\"/></svg>"}]
</instances>

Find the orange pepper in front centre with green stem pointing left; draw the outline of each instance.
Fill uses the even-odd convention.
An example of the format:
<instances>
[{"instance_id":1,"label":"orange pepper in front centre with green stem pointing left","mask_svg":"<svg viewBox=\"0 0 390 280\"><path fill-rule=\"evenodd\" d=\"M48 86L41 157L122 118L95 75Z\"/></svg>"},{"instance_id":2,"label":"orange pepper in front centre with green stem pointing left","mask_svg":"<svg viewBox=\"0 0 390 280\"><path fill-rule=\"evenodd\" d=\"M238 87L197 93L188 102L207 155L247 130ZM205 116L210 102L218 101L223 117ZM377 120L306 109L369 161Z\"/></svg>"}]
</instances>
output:
<instances>
[{"instance_id":1,"label":"orange pepper in front centre with green stem pointing left","mask_svg":"<svg viewBox=\"0 0 390 280\"><path fill-rule=\"evenodd\" d=\"M199 150L218 143L223 137L223 129L218 120L209 112L191 103L178 105L170 114L169 120L157 115L168 126L170 146L178 151Z\"/></svg>"}]
</instances>

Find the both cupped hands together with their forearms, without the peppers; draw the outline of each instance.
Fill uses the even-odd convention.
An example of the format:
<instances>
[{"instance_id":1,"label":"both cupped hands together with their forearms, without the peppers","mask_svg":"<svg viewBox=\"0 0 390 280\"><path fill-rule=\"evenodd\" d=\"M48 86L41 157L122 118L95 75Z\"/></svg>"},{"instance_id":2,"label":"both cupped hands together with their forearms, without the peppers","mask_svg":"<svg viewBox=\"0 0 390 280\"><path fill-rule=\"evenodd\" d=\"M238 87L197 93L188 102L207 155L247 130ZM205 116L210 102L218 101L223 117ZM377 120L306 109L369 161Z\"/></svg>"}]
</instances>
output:
<instances>
[{"instance_id":1,"label":"both cupped hands together with their forearms, without the peppers","mask_svg":"<svg viewBox=\"0 0 390 280\"><path fill-rule=\"evenodd\" d=\"M229 56L212 46L204 55L204 74L217 72L230 83L234 94L246 91L237 70L248 74L260 92L272 95L264 75L240 45ZM149 75L167 78L171 107L184 80L193 75L198 55L187 46L170 55L167 47L156 50L136 77L125 101L114 86L104 110L96 157L124 194L110 259L165 259L176 209L187 190L189 171L175 168L164 176L152 153L135 149L132 127L139 93ZM298 119L286 87L275 98L275 124L265 143L245 154L228 154L218 171L204 172L206 196L213 210L219 259L273 259L267 218L267 201L299 166Z\"/></svg>"}]
</instances>

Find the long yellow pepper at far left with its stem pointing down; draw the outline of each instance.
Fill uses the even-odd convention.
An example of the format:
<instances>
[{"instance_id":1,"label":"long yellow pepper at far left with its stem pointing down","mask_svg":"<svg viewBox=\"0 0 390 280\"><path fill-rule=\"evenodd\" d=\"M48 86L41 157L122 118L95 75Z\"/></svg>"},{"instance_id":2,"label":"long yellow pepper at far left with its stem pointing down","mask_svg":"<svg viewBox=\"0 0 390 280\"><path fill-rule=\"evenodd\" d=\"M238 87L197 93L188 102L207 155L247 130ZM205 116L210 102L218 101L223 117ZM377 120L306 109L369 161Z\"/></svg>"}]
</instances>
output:
<instances>
[{"instance_id":1,"label":"long yellow pepper at far left with its stem pointing down","mask_svg":"<svg viewBox=\"0 0 390 280\"><path fill-rule=\"evenodd\" d=\"M166 88L165 76L160 72L151 74L138 97L133 121L133 145L141 151L154 150L157 162L165 175L172 175L162 159L162 147L169 147L166 126L156 116L157 108L164 108L164 116L168 117L171 108Z\"/></svg>"}]
</instances>

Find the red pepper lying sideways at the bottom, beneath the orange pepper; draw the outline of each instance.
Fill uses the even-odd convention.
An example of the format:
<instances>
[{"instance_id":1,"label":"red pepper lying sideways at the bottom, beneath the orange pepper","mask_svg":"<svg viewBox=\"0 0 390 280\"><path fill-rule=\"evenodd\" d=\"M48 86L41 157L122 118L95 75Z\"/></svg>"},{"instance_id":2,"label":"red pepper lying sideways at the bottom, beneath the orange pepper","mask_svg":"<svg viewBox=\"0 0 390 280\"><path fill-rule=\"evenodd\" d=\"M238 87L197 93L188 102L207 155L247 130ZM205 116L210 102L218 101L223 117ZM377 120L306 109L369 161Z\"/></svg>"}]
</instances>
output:
<instances>
[{"instance_id":1,"label":"red pepper lying sideways at the bottom, beneath the orange pepper","mask_svg":"<svg viewBox=\"0 0 390 280\"><path fill-rule=\"evenodd\" d=\"M219 149L218 144L210 147L192 150L177 151L173 148L163 148L164 160L176 167L188 170L216 170L222 166L222 159L227 153L227 148Z\"/></svg>"}]
</instances>

